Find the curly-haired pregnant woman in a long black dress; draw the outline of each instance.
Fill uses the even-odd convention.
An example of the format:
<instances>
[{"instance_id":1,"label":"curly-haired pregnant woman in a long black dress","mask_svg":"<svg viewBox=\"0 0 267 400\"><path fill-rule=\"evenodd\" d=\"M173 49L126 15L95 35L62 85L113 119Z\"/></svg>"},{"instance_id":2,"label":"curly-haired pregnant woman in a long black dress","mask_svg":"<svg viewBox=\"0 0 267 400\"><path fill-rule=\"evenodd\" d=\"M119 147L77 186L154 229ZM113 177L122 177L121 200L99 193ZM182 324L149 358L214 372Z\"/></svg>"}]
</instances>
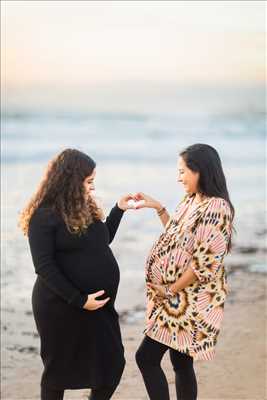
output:
<instances>
[{"instance_id":1,"label":"curly-haired pregnant woman in a long black dress","mask_svg":"<svg viewBox=\"0 0 267 400\"><path fill-rule=\"evenodd\" d=\"M67 149L48 165L20 217L37 278L32 308L44 364L41 399L65 389L91 388L91 400L110 399L124 366L114 302L119 268L109 247L131 195L106 221L91 191L95 162Z\"/></svg>"}]
</instances>

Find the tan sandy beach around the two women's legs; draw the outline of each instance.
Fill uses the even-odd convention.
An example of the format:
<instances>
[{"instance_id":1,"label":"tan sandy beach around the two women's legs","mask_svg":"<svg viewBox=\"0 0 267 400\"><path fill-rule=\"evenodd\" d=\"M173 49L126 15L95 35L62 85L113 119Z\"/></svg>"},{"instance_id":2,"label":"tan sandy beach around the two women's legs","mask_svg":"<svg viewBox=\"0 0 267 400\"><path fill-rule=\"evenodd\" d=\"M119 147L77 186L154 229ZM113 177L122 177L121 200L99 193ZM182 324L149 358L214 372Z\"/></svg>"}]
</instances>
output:
<instances>
[{"instance_id":1,"label":"tan sandy beach around the two women's legs","mask_svg":"<svg viewBox=\"0 0 267 400\"><path fill-rule=\"evenodd\" d=\"M230 271L228 280L230 294L225 305L215 360L195 362L198 398L264 400L267 399L266 275L235 268ZM39 337L31 311L4 311L1 398L38 399L42 364ZM143 317L141 306L121 316L127 365L114 400L148 399L134 358L143 337ZM171 399L174 400L174 374L168 354L164 356L162 365L170 384ZM88 394L89 390L67 390L64 398L87 399Z\"/></svg>"}]
</instances>

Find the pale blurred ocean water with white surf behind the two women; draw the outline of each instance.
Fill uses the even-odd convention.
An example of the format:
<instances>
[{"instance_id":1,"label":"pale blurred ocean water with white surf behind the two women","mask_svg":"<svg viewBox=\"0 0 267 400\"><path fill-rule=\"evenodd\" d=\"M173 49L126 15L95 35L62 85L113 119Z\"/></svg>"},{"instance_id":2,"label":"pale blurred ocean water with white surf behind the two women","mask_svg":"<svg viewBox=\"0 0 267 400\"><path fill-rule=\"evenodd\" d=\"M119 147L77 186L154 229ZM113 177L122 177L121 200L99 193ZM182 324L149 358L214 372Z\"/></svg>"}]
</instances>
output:
<instances>
[{"instance_id":1,"label":"pale blurred ocean water with white surf behind the two women","mask_svg":"<svg viewBox=\"0 0 267 400\"><path fill-rule=\"evenodd\" d=\"M3 307L20 308L23 302L30 308L36 276L18 216L48 161L67 147L96 160L96 192L108 213L120 196L136 191L156 197L173 212L184 195L177 182L179 151L193 143L214 146L236 209L235 249L226 265L266 272L265 139L264 113L255 110L181 115L8 112L1 154ZM161 231L153 210L125 213L112 244L121 269L119 310L144 300L145 259Z\"/></svg>"}]
</instances>

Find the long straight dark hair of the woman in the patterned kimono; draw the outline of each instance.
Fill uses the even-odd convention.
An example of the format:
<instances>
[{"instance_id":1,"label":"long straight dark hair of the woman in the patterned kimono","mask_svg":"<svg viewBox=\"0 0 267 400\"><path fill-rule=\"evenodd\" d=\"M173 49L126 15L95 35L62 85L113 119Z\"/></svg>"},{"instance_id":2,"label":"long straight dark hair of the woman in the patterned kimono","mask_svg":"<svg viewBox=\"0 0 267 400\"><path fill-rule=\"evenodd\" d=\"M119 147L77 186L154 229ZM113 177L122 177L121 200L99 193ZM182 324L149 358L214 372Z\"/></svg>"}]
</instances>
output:
<instances>
[{"instance_id":1,"label":"long straight dark hair of the woman in the patterned kimono","mask_svg":"<svg viewBox=\"0 0 267 400\"><path fill-rule=\"evenodd\" d=\"M208 144L196 143L181 151L180 156L191 171L199 172L198 192L208 197L221 197L228 202L232 217L231 230L235 231L233 227L235 209L230 200L218 152ZM230 235L228 251L231 251L231 249L232 239Z\"/></svg>"}]
</instances>

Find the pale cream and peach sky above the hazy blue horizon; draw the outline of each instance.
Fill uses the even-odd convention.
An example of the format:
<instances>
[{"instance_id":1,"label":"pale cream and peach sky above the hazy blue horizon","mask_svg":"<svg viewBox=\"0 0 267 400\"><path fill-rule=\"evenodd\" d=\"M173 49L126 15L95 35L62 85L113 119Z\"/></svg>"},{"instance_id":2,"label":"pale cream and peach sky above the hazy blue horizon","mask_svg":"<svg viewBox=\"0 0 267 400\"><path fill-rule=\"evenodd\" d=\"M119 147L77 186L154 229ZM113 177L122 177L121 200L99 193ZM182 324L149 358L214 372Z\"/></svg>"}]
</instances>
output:
<instances>
[{"instance_id":1,"label":"pale cream and peach sky above the hazy blue horizon","mask_svg":"<svg viewBox=\"0 0 267 400\"><path fill-rule=\"evenodd\" d=\"M2 1L7 87L264 80L264 1Z\"/></svg>"}]
</instances>

